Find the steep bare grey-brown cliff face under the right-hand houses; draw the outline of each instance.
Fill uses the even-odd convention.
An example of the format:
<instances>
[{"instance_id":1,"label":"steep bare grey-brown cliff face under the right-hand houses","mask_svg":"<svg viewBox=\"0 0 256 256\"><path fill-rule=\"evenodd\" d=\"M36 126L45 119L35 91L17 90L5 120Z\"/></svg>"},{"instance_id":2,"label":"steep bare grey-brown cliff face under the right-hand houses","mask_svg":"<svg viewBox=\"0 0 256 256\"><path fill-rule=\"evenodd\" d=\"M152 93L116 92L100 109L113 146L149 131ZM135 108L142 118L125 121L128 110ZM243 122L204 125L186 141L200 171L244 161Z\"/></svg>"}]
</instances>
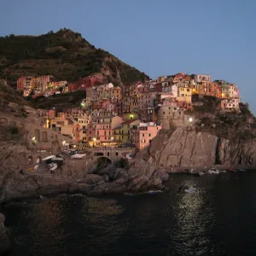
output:
<instances>
[{"instance_id":1,"label":"steep bare grey-brown cliff face under the right-hand houses","mask_svg":"<svg viewBox=\"0 0 256 256\"><path fill-rule=\"evenodd\" d=\"M159 168L170 166L256 166L256 144L226 140L208 132L177 128L160 131L143 159Z\"/></svg>"}]
</instances>

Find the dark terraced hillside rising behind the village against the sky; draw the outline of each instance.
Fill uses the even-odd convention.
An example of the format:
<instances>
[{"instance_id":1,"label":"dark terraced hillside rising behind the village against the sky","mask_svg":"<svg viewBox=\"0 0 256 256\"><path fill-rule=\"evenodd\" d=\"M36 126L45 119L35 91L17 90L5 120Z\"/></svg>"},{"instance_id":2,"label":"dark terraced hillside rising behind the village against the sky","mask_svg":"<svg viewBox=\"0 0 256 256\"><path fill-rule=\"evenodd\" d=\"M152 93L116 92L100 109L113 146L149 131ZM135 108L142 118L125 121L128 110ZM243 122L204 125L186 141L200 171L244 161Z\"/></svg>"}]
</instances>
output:
<instances>
[{"instance_id":1,"label":"dark terraced hillside rising behind the village against the sky","mask_svg":"<svg viewBox=\"0 0 256 256\"><path fill-rule=\"evenodd\" d=\"M50 74L58 80L76 81L93 74L113 84L148 79L145 73L96 49L81 34L69 29L41 36L9 35L0 38L0 79L9 84L23 75Z\"/></svg>"}]
</instances>

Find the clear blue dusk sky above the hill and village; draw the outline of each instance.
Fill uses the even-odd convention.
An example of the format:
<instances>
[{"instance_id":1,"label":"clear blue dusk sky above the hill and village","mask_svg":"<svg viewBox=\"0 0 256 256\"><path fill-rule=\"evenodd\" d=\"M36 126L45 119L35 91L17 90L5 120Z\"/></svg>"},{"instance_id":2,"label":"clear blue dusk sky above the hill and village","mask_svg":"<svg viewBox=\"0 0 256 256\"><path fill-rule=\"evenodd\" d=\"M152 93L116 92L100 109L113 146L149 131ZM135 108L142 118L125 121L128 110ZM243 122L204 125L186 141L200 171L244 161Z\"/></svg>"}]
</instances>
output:
<instances>
[{"instance_id":1,"label":"clear blue dusk sky above the hill and village","mask_svg":"<svg viewBox=\"0 0 256 256\"><path fill-rule=\"evenodd\" d=\"M0 35L67 27L147 73L211 74L256 113L255 0L0 0Z\"/></svg>"}]
</instances>

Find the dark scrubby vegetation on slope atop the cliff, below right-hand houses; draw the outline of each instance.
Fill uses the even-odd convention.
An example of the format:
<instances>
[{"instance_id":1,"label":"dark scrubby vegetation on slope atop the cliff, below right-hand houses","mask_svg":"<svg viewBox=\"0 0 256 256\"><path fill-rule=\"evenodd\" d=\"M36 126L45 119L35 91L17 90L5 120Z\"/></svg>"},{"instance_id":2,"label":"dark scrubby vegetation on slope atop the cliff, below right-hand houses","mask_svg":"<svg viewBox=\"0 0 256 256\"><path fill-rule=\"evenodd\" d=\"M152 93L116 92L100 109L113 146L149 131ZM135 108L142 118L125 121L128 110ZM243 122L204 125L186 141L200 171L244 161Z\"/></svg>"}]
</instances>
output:
<instances>
[{"instance_id":1,"label":"dark scrubby vegetation on slope atop the cliff, below right-hand houses","mask_svg":"<svg viewBox=\"0 0 256 256\"><path fill-rule=\"evenodd\" d=\"M218 137L239 140L241 143L256 138L256 120L248 104L240 103L239 112L222 112L220 99L214 96L195 95L192 102L197 103L193 111L197 119L197 131L208 131Z\"/></svg>"}]
</instances>

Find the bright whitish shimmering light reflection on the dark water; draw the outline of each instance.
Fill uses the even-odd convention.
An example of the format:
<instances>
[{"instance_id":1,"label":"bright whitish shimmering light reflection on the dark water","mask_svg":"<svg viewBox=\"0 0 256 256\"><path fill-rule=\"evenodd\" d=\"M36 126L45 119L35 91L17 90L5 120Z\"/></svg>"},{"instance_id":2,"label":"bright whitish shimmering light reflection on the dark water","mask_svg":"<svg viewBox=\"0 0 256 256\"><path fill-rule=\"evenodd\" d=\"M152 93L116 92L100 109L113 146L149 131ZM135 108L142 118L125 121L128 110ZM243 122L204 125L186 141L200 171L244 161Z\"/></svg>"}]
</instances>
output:
<instances>
[{"instance_id":1,"label":"bright whitish shimmering light reflection on the dark water","mask_svg":"<svg viewBox=\"0 0 256 256\"><path fill-rule=\"evenodd\" d=\"M197 185L191 180L184 183L187 188ZM212 209L207 205L204 190L197 188L193 192L179 194L174 218L176 224L169 233L177 252L183 255L207 255L207 245L210 243L207 230L214 219Z\"/></svg>"}]
</instances>

